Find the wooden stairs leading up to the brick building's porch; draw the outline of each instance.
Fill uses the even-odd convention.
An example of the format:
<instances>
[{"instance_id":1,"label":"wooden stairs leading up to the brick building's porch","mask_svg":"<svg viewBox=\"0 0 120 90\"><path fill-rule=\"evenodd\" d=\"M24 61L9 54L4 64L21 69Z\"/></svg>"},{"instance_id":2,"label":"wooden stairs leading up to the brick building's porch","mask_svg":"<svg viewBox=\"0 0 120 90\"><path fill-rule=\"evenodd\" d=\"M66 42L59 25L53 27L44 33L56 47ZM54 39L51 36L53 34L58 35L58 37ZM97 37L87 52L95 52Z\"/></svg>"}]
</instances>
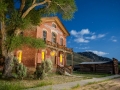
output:
<instances>
[{"instance_id":1,"label":"wooden stairs leading up to the brick building's porch","mask_svg":"<svg viewBox=\"0 0 120 90\"><path fill-rule=\"evenodd\" d=\"M62 75L65 75L65 73L69 73L71 74L72 73L72 66L60 66L60 65L57 65L57 72L62 74Z\"/></svg>"}]
</instances>

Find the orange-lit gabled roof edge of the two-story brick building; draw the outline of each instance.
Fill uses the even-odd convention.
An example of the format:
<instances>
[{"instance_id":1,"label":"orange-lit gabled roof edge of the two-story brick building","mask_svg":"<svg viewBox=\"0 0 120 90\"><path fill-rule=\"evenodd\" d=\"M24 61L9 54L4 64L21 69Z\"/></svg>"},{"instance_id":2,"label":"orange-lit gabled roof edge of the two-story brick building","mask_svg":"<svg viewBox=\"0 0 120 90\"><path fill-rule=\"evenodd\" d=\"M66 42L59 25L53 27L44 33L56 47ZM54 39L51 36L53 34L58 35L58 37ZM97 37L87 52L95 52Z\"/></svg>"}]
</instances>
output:
<instances>
[{"instance_id":1,"label":"orange-lit gabled roof edge of the two-story brick building","mask_svg":"<svg viewBox=\"0 0 120 90\"><path fill-rule=\"evenodd\" d=\"M62 24L62 22L60 21L60 19L56 16L56 17L43 17L41 18L42 23L44 22L56 22L57 25L61 28L61 30L63 31L64 34L66 34L66 36L69 36L70 33L67 31L67 29L65 28L65 26Z\"/></svg>"}]
</instances>

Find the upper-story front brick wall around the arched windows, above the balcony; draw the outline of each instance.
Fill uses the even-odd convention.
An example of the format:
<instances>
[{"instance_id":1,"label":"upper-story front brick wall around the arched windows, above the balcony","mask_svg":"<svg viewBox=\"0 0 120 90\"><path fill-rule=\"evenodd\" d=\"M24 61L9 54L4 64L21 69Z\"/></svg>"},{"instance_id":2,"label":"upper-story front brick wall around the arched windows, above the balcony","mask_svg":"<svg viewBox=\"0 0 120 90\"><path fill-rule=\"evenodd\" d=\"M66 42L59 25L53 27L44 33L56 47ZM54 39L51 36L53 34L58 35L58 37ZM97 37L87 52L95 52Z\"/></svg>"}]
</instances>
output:
<instances>
[{"instance_id":1,"label":"upper-story front brick wall around the arched windows, above the balcony","mask_svg":"<svg viewBox=\"0 0 120 90\"><path fill-rule=\"evenodd\" d=\"M43 31L47 31L47 40L51 41L52 39L52 32L54 32L57 35L56 42L60 44L60 38L63 38L63 45L66 46L66 37L64 36L64 33L62 30L60 30L60 27L57 26L56 28L52 27L52 23L55 22L46 22L42 23L40 26L37 27L37 38L43 37Z\"/></svg>"}]
</instances>

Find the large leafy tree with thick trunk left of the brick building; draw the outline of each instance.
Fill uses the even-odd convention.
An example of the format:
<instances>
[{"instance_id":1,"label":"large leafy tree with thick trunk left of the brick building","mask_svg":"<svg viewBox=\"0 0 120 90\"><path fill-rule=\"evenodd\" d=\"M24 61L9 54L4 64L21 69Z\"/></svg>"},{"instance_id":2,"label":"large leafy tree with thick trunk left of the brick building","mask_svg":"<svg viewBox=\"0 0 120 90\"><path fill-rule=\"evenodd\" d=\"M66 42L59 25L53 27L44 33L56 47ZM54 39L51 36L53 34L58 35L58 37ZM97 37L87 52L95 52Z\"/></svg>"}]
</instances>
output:
<instances>
[{"instance_id":1,"label":"large leafy tree with thick trunk left of the brick building","mask_svg":"<svg viewBox=\"0 0 120 90\"><path fill-rule=\"evenodd\" d=\"M36 26L40 18L60 14L70 20L76 11L74 0L1 0L0 21L2 55L5 57L4 77L9 77L13 51L24 44L35 48L44 47L40 39L21 36L28 26Z\"/></svg>"}]
</instances>

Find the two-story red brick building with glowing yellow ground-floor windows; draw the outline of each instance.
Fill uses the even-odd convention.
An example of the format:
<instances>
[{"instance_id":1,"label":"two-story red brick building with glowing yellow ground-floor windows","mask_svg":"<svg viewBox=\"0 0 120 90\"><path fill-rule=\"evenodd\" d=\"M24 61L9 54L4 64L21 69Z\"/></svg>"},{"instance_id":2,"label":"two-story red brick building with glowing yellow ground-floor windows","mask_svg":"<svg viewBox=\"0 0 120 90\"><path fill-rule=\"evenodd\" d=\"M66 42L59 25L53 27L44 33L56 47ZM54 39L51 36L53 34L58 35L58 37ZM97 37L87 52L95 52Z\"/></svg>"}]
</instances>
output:
<instances>
[{"instance_id":1,"label":"two-story red brick building with glowing yellow ground-floor windows","mask_svg":"<svg viewBox=\"0 0 120 90\"><path fill-rule=\"evenodd\" d=\"M56 70L57 66L66 66L67 53L72 55L72 49L66 47L66 37L70 34L58 17L42 18L39 26L24 32L23 35L42 38L46 43L46 48L33 49L24 46L21 50L18 50L16 53L19 54L24 65L34 68L42 60L50 58L54 70Z\"/></svg>"}]
</instances>

